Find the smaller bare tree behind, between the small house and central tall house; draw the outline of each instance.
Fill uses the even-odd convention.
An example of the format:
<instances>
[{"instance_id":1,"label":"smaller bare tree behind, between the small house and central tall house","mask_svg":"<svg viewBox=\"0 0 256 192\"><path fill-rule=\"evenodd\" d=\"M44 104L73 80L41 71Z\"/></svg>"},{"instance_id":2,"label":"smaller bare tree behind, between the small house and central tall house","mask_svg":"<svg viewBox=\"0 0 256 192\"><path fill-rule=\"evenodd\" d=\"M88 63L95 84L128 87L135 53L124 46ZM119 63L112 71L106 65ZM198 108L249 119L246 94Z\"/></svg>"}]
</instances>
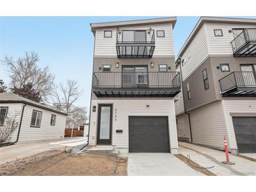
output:
<instances>
[{"instance_id":1,"label":"smaller bare tree behind, between the small house and central tall house","mask_svg":"<svg viewBox=\"0 0 256 192\"><path fill-rule=\"evenodd\" d=\"M79 111L86 111L85 107L74 107L74 103L79 100L81 93L79 84L72 79L68 79L64 84L55 85L52 90L53 106L69 116L79 118Z\"/></svg>"}]
</instances>

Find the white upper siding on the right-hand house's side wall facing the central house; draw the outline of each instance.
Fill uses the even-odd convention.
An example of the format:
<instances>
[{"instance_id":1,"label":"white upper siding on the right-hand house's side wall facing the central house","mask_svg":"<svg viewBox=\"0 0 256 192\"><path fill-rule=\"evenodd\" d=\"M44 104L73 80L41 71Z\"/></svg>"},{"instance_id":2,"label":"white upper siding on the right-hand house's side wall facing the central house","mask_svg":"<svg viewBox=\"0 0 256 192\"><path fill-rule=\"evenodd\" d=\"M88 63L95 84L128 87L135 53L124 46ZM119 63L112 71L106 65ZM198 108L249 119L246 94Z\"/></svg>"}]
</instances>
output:
<instances>
[{"instance_id":1,"label":"white upper siding on the right-hand house's side wall facing the central house","mask_svg":"<svg viewBox=\"0 0 256 192\"><path fill-rule=\"evenodd\" d=\"M188 58L190 52L191 57ZM206 58L208 57L208 46L206 41L206 28L205 25L199 29L194 39L191 41L184 54L181 55L183 60L187 57L187 62L182 66L182 79L186 80Z\"/></svg>"}]
</instances>

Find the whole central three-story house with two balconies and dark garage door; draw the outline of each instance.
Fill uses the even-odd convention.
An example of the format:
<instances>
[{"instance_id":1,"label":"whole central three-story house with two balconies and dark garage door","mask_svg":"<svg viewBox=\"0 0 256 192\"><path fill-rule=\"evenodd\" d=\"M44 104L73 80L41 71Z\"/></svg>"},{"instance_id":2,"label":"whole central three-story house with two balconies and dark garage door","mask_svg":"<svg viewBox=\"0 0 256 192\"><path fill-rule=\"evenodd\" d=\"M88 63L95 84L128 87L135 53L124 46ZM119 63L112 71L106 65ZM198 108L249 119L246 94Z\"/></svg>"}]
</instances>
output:
<instances>
[{"instance_id":1,"label":"whole central three-story house with two balconies and dark garage door","mask_svg":"<svg viewBox=\"0 0 256 192\"><path fill-rule=\"evenodd\" d=\"M176 18L92 23L89 146L176 153Z\"/></svg>"}]
</instances>

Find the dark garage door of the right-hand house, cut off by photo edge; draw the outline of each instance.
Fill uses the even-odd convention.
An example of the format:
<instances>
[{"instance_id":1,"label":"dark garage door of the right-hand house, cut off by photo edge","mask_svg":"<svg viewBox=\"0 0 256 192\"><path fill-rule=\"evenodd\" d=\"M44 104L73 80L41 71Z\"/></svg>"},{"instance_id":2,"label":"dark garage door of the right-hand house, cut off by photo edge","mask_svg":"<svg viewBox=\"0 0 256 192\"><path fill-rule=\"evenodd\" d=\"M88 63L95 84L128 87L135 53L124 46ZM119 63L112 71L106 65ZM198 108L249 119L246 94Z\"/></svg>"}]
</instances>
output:
<instances>
[{"instance_id":1,"label":"dark garage door of the right-hand house, cut off by photo edge","mask_svg":"<svg viewBox=\"0 0 256 192\"><path fill-rule=\"evenodd\" d=\"M256 117L233 117L239 153L256 153Z\"/></svg>"}]
</instances>

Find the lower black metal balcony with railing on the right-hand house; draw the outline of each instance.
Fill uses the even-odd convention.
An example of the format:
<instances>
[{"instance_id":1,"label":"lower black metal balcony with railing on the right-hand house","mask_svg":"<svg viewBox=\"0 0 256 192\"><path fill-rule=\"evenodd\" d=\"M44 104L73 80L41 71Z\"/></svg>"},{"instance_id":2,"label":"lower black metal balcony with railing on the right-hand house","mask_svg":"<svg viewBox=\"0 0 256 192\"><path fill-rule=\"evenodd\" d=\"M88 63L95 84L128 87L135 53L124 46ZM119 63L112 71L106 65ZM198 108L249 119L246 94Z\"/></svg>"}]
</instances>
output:
<instances>
[{"instance_id":1,"label":"lower black metal balcony with railing on the right-hand house","mask_svg":"<svg viewBox=\"0 0 256 192\"><path fill-rule=\"evenodd\" d=\"M256 72L234 71L219 80L220 91L224 97L255 97Z\"/></svg>"}]
</instances>

